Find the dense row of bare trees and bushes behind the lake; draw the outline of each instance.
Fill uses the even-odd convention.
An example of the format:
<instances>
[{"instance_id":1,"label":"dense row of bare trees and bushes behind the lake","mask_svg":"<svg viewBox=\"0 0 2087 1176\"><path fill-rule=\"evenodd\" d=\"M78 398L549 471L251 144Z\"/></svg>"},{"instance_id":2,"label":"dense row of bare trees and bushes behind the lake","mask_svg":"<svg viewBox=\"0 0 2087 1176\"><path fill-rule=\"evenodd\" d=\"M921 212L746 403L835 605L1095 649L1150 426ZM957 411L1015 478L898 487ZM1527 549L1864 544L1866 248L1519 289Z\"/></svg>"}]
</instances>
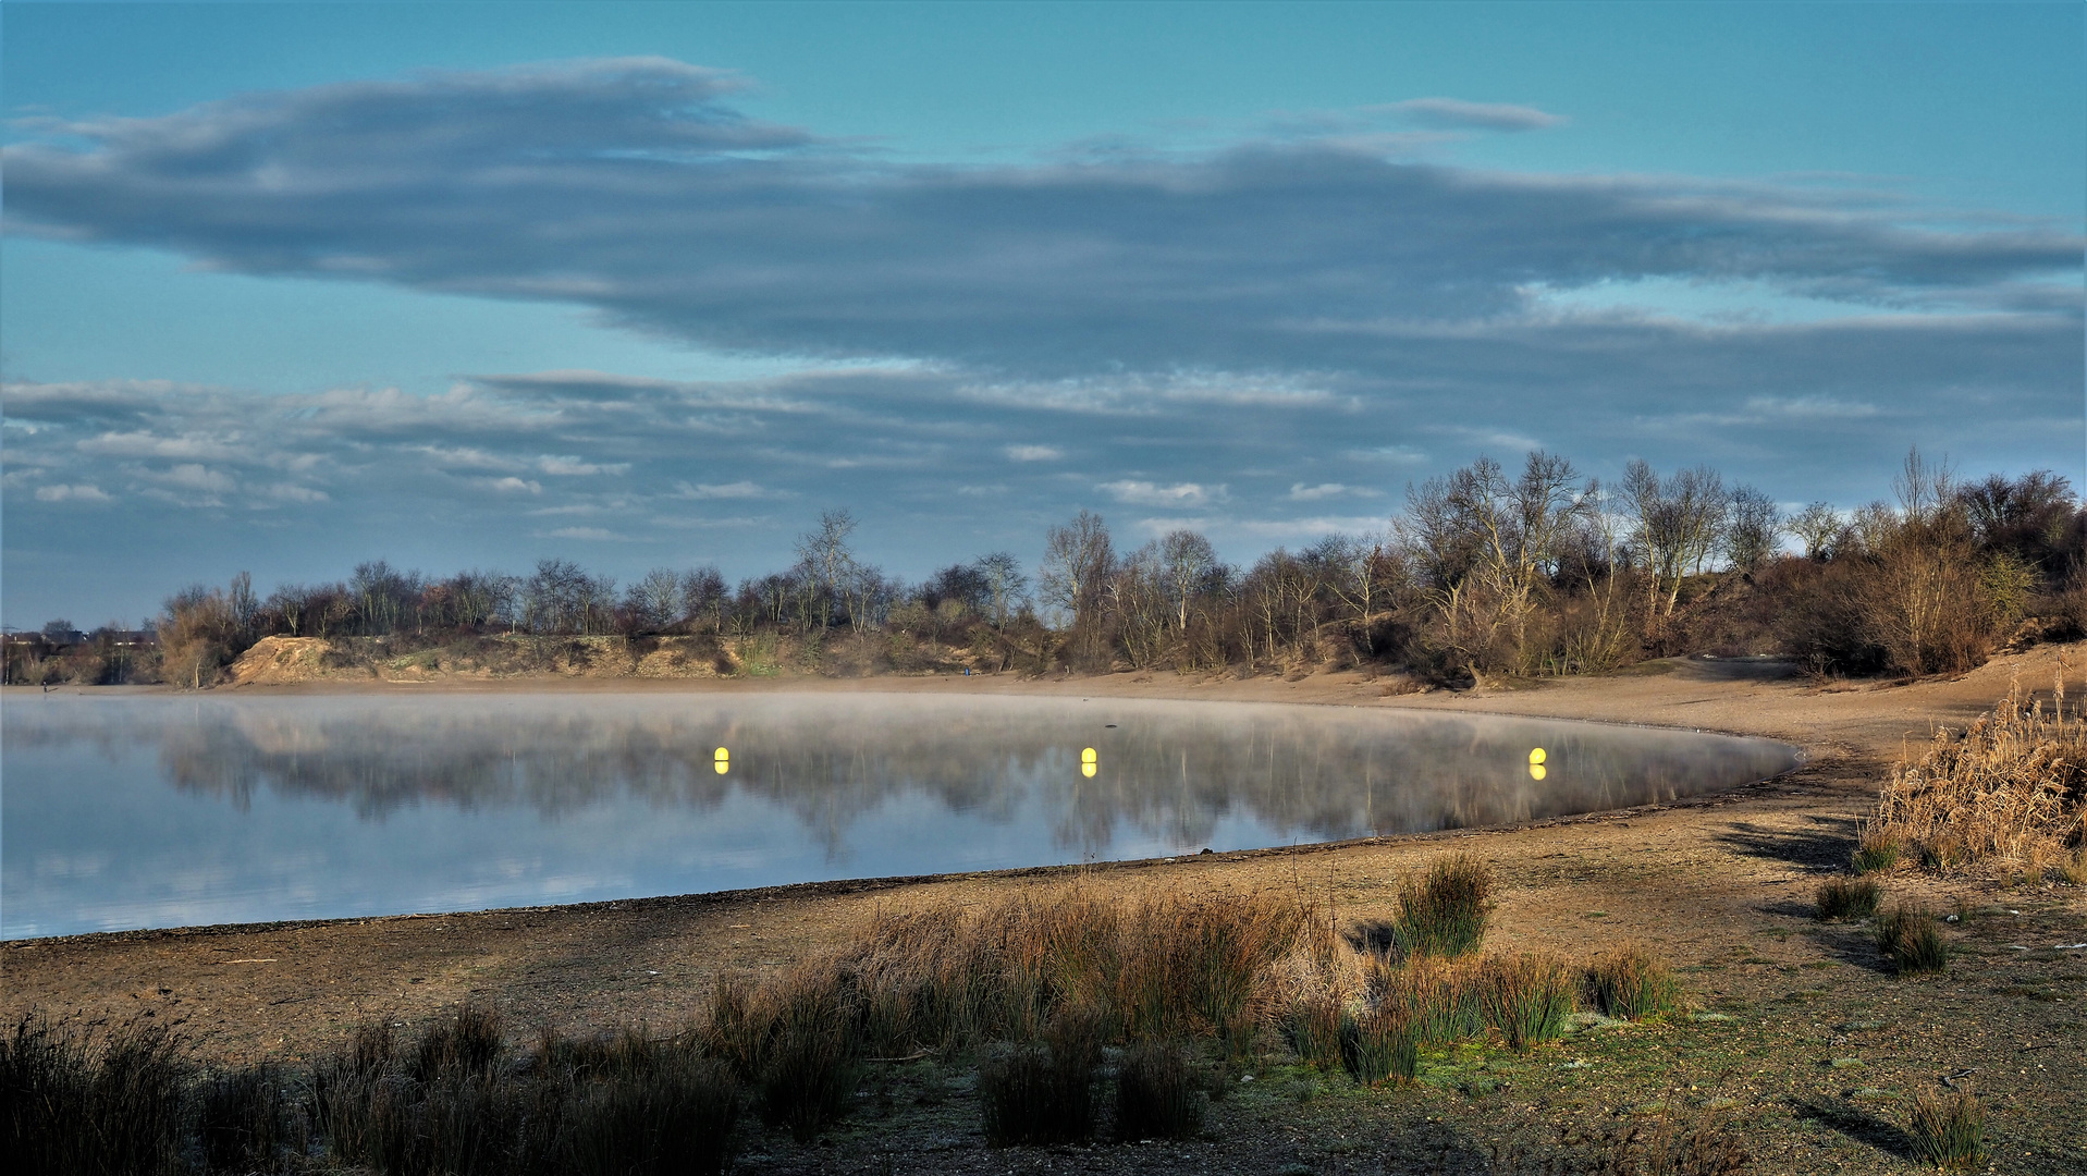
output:
<instances>
[{"instance_id":1,"label":"dense row of bare trees and bushes behind the lake","mask_svg":"<svg viewBox=\"0 0 2087 1176\"><path fill-rule=\"evenodd\" d=\"M1910 453L1895 491L1895 503L1782 518L1709 468L1634 462L1609 487L1538 451L1519 472L1482 457L1409 487L1382 533L1277 547L1250 566L1225 564L1194 531L1121 549L1081 512L1046 533L1033 577L995 551L918 585L862 560L851 516L829 512L795 564L737 587L716 568L618 585L570 560L447 579L378 560L261 597L242 572L167 599L157 645L54 620L10 645L8 681L207 685L267 635L691 635L810 673L1373 666L1469 683L1718 652L1924 675L2087 629L2087 508L2064 478L1958 483Z\"/></svg>"}]
</instances>

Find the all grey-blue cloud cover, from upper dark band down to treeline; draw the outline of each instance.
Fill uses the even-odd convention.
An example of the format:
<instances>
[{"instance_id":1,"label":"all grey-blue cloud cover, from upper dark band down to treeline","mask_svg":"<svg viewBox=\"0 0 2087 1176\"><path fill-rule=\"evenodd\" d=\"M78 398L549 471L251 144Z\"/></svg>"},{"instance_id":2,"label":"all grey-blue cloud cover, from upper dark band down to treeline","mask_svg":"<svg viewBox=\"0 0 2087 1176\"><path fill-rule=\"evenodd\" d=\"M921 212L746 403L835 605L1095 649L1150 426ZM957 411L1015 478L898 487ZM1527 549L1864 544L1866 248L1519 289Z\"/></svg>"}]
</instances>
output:
<instances>
[{"instance_id":1,"label":"all grey-blue cloud cover, from upper dark band down to treeline","mask_svg":"<svg viewBox=\"0 0 2087 1176\"><path fill-rule=\"evenodd\" d=\"M1377 526L1409 478L1521 445L1603 476L1711 462L1789 501L1872 497L1908 443L2079 476L2064 232L1918 228L1818 186L1392 163L1352 136L893 167L743 117L735 86L651 58L422 75L6 148L17 230L580 303L814 368L480 374L440 395L15 382L6 620L98 599L136 616L182 579L367 556L747 574L824 505L908 574L1033 556L1079 508L1252 558ZM1843 313L1553 299L1645 278ZM843 355L877 363L816 370Z\"/></svg>"}]
</instances>

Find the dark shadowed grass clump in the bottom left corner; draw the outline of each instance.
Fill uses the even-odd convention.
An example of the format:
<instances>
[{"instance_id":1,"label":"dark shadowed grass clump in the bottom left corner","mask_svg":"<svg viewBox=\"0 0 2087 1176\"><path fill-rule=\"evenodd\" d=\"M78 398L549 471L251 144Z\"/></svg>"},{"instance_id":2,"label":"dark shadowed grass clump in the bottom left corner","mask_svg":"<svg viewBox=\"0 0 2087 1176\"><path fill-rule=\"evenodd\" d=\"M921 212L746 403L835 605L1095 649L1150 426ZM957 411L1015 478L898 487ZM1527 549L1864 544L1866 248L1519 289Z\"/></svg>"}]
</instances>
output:
<instances>
[{"instance_id":1,"label":"dark shadowed grass clump in the bottom left corner","mask_svg":"<svg viewBox=\"0 0 2087 1176\"><path fill-rule=\"evenodd\" d=\"M163 1026L90 1036L25 1013L0 1038L0 1153L40 1176L177 1172L186 1084Z\"/></svg>"}]
</instances>

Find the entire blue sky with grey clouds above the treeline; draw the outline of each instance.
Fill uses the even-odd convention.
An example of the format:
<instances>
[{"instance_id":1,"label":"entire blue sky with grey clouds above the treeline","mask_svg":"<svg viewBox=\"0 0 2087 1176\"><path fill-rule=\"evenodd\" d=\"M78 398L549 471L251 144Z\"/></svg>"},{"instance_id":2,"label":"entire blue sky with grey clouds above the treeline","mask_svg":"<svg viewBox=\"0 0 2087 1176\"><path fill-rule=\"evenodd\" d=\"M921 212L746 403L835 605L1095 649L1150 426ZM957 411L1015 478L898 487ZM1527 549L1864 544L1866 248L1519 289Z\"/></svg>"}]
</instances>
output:
<instances>
[{"instance_id":1,"label":"entire blue sky with grey clouds above the treeline","mask_svg":"<svg viewBox=\"0 0 2087 1176\"><path fill-rule=\"evenodd\" d=\"M2087 485L2079 4L0 6L0 622Z\"/></svg>"}]
</instances>

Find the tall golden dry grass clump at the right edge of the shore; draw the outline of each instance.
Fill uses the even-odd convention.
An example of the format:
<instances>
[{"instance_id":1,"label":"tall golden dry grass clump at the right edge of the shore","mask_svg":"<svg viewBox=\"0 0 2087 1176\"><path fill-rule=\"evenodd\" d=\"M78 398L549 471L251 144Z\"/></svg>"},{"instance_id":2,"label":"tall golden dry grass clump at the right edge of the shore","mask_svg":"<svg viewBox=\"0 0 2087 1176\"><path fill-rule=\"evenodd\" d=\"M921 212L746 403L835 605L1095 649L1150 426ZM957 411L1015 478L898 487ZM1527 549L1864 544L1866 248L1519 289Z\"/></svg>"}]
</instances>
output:
<instances>
[{"instance_id":1,"label":"tall golden dry grass clump at the right edge of the shore","mask_svg":"<svg viewBox=\"0 0 2087 1176\"><path fill-rule=\"evenodd\" d=\"M1878 825L1924 865L1993 863L2041 873L2087 833L2087 719L2066 714L2064 668L2049 708L2020 683L1964 731L1937 731L1893 769Z\"/></svg>"}]
</instances>

